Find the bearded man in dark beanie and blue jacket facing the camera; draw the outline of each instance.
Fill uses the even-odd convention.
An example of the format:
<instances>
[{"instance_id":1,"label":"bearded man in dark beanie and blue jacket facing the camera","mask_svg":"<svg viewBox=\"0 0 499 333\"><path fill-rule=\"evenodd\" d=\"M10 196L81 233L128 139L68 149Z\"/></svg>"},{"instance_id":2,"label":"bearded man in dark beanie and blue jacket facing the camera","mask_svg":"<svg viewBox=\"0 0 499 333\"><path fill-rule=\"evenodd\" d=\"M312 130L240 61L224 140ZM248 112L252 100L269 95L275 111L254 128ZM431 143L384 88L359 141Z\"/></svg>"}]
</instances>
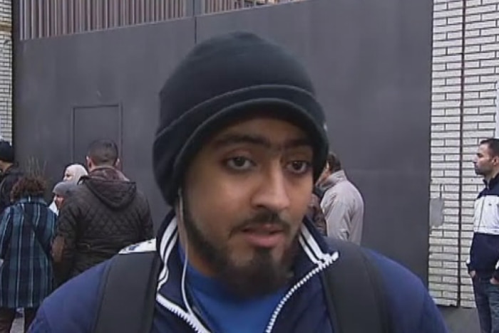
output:
<instances>
[{"instance_id":1,"label":"bearded man in dark beanie and blue jacket facing the camera","mask_svg":"<svg viewBox=\"0 0 499 333\"><path fill-rule=\"evenodd\" d=\"M327 152L324 113L295 58L252 33L198 44L160 93L153 166L174 209L157 240L67 282L48 297L31 332L343 333L333 328L327 305L339 294L326 290L322 276L346 267L348 255L304 218ZM158 275L144 283L151 304L130 300L144 306L129 316L121 311L135 311L133 304L101 308L110 265L148 251L160 260ZM370 332L446 332L417 277L381 255L369 258L379 268L393 327ZM133 270L107 281L126 285ZM120 295L127 292L123 287ZM107 324L149 315L150 323L94 331L103 310L116 318L103 317ZM359 307L349 316L360 322L366 312Z\"/></svg>"}]
</instances>

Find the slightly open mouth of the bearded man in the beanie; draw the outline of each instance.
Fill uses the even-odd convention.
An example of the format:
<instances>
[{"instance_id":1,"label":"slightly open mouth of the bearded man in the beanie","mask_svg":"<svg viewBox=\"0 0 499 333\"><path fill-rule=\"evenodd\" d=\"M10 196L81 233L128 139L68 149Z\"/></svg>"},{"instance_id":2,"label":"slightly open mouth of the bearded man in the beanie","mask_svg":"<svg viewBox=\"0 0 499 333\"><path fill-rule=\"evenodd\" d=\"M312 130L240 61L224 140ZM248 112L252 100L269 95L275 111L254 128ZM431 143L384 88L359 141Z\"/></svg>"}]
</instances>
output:
<instances>
[{"instance_id":1,"label":"slightly open mouth of the bearded man in the beanie","mask_svg":"<svg viewBox=\"0 0 499 333\"><path fill-rule=\"evenodd\" d=\"M284 241L284 228L274 223L247 226L242 234L256 248L274 248Z\"/></svg>"}]
</instances>

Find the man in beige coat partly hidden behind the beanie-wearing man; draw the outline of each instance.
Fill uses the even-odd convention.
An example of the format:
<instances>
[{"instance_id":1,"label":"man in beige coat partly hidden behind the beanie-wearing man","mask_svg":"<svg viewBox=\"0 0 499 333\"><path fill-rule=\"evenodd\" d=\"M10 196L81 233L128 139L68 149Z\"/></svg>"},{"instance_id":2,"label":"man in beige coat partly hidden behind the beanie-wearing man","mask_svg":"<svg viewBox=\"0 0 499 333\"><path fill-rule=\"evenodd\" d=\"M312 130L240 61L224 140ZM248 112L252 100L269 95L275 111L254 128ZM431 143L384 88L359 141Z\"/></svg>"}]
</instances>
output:
<instances>
[{"instance_id":1,"label":"man in beige coat partly hidden behind the beanie-wearing man","mask_svg":"<svg viewBox=\"0 0 499 333\"><path fill-rule=\"evenodd\" d=\"M360 244L364 224L364 199L359 190L346 178L341 162L329 154L324 173L319 179L324 191L321 208L327 225L327 236Z\"/></svg>"}]
</instances>

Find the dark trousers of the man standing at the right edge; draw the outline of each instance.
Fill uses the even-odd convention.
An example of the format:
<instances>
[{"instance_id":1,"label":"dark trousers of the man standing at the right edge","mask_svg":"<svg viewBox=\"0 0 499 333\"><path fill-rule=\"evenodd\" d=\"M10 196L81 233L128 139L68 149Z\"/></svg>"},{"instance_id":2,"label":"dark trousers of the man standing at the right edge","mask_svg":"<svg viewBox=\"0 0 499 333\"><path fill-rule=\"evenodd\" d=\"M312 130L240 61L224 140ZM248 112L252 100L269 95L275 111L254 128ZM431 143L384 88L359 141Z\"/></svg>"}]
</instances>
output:
<instances>
[{"instance_id":1,"label":"dark trousers of the man standing at the right edge","mask_svg":"<svg viewBox=\"0 0 499 333\"><path fill-rule=\"evenodd\" d=\"M481 333L499 333L499 285L491 284L489 278L475 277L473 292Z\"/></svg>"}]
</instances>

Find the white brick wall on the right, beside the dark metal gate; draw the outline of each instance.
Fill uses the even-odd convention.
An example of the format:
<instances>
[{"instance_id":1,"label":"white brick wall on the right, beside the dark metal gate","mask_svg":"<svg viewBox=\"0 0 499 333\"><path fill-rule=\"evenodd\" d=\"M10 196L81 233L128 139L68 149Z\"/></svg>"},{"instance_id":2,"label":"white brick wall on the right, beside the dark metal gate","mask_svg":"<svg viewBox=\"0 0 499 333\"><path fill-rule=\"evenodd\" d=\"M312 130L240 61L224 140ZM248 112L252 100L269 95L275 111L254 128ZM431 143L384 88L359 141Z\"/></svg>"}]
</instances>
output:
<instances>
[{"instance_id":1,"label":"white brick wall on the right, beside the dark metal gate","mask_svg":"<svg viewBox=\"0 0 499 333\"><path fill-rule=\"evenodd\" d=\"M473 201L483 185L474 174L471 159L480 139L492 137L495 132L499 0L466 0L464 19L463 43L463 0L434 0L430 192L431 198L441 196L444 199L445 208L443 225L433 227L431 231L428 270L431 295L438 304L457 305L461 299L462 306L472 307L473 292L465 260L473 234ZM464 115L461 123L463 51ZM459 283L461 295L458 295Z\"/></svg>"}]
</instances>

